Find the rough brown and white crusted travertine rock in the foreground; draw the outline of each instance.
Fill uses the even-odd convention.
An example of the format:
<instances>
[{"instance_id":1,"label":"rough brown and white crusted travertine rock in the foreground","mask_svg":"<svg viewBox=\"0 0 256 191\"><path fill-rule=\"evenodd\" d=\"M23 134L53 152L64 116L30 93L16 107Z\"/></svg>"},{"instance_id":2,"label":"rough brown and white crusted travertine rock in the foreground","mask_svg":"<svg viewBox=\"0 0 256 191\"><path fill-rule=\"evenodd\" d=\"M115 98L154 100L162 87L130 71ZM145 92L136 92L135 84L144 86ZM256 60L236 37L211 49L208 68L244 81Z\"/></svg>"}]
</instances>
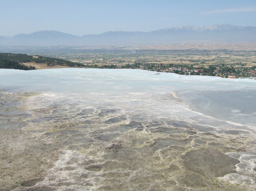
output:
<instances>
[{"instance_id":1,"label":"rough brown and white crusted travertine rock in the foreground","mask_svg":"<svg viewBox=\"0 0 256 191\"><path fill-rule=\"evenodd\" d=\"M0 102L0 190L256 189L254 127L172 94L1 92Z\"/></svg>"}]
</instances>

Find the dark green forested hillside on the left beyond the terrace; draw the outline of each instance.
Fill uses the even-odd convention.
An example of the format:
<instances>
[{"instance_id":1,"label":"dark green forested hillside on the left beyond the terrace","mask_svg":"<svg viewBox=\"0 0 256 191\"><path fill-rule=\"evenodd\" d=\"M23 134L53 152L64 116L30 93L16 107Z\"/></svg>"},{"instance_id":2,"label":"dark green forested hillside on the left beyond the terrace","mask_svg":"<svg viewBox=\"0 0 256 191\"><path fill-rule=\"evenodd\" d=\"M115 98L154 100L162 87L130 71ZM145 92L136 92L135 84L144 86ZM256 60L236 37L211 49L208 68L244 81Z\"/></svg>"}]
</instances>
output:
<instances>
[{"instance_id":1,"label":"dark green forested hillside on the left beyond the terrace","mask_svg":"<svg viewBox=\"0 0 256 191\"><path fill-rule=\"evenodd\" d=\"M70 67L82 67L82 64L70 62L69 60L62 60L59 58L51 58L46 56L30 56L26 54L12 54L12 53L0 53L0 68L13 68L30 70L35 69L35 67L27 67L21 63L35 62L44 63L48 66L52 65L67 65Z\"/></svg>"}]
</instances>

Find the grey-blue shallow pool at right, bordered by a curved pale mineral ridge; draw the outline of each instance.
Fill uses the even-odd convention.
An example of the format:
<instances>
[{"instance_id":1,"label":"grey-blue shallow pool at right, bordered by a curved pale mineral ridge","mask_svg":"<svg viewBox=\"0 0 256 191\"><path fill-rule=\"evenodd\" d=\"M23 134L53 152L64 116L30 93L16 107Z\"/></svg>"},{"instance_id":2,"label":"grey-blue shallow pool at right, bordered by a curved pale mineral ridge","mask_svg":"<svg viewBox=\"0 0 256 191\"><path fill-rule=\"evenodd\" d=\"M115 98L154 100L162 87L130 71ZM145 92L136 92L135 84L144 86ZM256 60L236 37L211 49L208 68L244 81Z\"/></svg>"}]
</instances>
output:
<instances>
[{"instance_id":1,"label":"grey-blue shallow pool at right, bordered by a curved pale mineral ridge","mask_svg":"<svg viewBox=\"0 0 256 191\"><path fill-rule=\"evenodd\" d=\"M178 93L193 111L221 120L256 126L256 91L183 91Z\"/></svg>"}]
</instances>

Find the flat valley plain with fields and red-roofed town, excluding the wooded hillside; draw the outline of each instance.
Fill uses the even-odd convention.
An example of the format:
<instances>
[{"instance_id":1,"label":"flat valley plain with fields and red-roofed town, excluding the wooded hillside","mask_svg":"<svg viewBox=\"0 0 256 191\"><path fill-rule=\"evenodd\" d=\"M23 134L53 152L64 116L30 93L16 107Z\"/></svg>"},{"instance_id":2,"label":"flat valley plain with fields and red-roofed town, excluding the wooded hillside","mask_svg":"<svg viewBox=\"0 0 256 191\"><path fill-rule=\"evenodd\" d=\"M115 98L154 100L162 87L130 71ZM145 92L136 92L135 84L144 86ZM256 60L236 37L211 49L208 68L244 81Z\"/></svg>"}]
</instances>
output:
<instances>
[{"instance_id":1,"label":"flat valley plain with fields and red-roofed town, excluding the wooded hillside","mask_svg":"<svg viewBox=\"0 0 256 191\"><path fill-rule=\"evenodd\" d=\"M88 68L145 69L180 75L256 78L256 51L79 49L40 54L76 62Z\"/></svg>"}]
</instances>

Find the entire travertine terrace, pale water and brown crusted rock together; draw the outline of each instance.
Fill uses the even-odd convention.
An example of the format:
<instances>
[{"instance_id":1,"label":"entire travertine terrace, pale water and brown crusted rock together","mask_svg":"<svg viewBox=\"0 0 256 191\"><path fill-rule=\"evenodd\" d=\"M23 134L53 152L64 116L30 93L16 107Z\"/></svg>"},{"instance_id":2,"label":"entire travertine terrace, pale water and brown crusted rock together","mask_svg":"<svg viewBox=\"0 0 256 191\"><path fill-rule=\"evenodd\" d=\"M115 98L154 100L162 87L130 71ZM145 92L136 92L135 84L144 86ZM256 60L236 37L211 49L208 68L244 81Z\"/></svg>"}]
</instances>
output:
<instances>
[{"instance_id":1,"label":"entire travertine terrace, pale water and brown crusted rock together","mask_svg":"<svg viewBox=\"0 0 256 191\"><path fill-rule=\"evenodd\" d=\"M0 190L255 190L256 80L151 74L0 69Z\"/></svg>"}]
</instances>

